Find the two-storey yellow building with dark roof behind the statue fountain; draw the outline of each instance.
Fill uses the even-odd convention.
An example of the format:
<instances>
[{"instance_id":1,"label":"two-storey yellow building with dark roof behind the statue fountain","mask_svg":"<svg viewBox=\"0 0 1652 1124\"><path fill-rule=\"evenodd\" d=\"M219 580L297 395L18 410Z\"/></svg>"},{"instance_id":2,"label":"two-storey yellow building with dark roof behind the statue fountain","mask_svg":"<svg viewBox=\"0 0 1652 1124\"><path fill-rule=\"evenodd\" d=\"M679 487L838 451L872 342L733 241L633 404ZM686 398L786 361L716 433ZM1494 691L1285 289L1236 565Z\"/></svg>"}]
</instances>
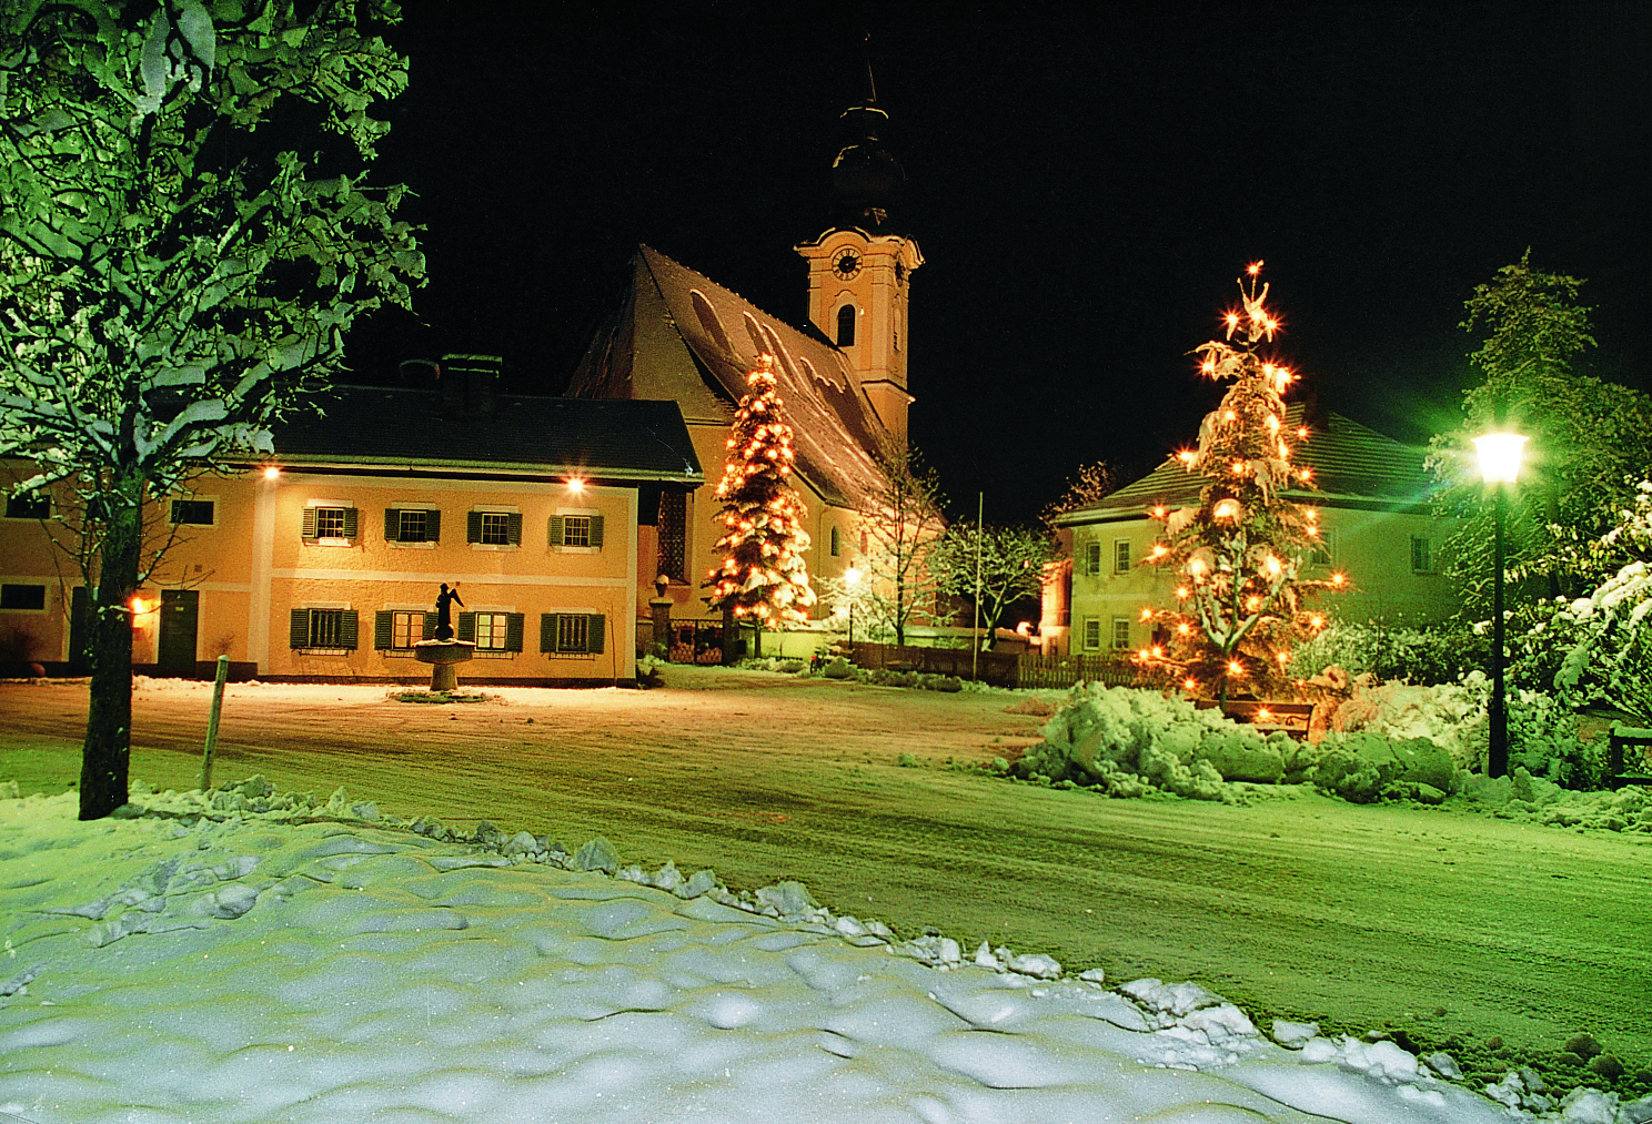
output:
<instances>
[{"instance_id":1,"label":"two-storey yellow building with dark roof behind the statue fountain","mask_svg":"<svg viewBox=\"0 0 1652 1124\"><path fill-rule=\"evenodd\" d=\"M448 357L441 390L337 388L268 462L160 497L147 543L172 541L132 606L139 670L210 675L228 655L240 677L428 682L413 644L448 583L476 644L463 680L634 682L638 513L704 482L682 418L501 396L496 371ZM81 515L64 489L8 503L0 662L81 664L84 579L50 540L73 543Z\"/></svg>"}]
</instances>

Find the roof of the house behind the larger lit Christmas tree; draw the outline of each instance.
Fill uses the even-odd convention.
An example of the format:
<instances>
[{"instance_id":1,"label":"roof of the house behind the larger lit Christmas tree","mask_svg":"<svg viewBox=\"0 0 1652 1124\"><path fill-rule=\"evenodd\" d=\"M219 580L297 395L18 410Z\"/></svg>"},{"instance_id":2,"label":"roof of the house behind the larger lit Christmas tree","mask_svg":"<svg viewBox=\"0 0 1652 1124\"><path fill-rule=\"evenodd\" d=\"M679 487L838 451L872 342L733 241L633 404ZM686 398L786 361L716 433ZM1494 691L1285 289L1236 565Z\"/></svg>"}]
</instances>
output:
<instances>
[{"instance_id":1,"label":"roof of the house behind the larger lit Christmas tree","mask_svg":"<svg viewBox=\"0 0 1652 1124\"><path fill-rule=\"evenodd\" d=\"M1302 403L1285 408L1287 429L1302 426ZM1308 436L1297 442L1297 464L1313 469L1313 489L1282 489L1280 495L1325 507L1419 508L1434 490L1434 477L1424 469L1427 449L1406 446L1341 414L1327 414ZM1155 505L1184 507L1199 498L1206 477L1188 472L1170 459L1140 480L1110 495L1066 512L1056 522L1064 527L1110 523L1143 518Z\"/></svg>"}]
</instances>

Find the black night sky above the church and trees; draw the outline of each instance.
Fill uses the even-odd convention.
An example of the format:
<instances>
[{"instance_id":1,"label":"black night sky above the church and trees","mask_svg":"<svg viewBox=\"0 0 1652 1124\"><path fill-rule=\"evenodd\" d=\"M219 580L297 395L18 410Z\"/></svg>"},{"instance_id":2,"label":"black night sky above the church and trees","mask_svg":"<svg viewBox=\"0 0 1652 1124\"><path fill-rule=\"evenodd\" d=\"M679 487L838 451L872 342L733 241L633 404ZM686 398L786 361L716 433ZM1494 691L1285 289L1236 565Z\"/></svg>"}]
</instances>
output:
<instances>
[{"instance_id":1,"label":"black night sky above the church and trees","mask_svg":"<svg viewBox=\"0 0 1652 1124\"><path fill-rule=\"evenodd\" d=\"M373 178L418 193L431 281L357 328L363 378L486 352L560 393L638 243L801 324L791 246L829 224L871 31L890 226L927 259L912 439L955 513L985 490L990 522L1029 520L1080 464L1132 479L1191 439L1219 390L1188 352L1257 257L1280 353L1401 439L1454 423L1462 302L1526 246L1589 279L1581 368L1647 386L1645 5L656 7L408 5Z\"/></svg>"}]
</instances>

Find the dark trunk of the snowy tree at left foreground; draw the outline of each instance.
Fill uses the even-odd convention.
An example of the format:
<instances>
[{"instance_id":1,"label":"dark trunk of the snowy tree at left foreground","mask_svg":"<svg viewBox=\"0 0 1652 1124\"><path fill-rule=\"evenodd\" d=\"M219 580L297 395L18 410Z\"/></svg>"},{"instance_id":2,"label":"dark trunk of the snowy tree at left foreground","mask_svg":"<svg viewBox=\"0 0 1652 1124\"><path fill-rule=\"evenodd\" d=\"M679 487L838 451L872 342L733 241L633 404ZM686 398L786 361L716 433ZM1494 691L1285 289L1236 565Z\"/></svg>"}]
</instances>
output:
<instances>
[{"instance_id":1,"label":"dark trunk of the snowy tree at left foreground","mask_svg":"<svg viewBox=\"0 0 1652 1124\"><path fill-rule=\"evenodd\" d=\"M132 594L144 538L142 482L116 479L97 566L91 621L91 705L81 751L81 819L126 804L132 753Z\"/></svg>"}]
</instances>

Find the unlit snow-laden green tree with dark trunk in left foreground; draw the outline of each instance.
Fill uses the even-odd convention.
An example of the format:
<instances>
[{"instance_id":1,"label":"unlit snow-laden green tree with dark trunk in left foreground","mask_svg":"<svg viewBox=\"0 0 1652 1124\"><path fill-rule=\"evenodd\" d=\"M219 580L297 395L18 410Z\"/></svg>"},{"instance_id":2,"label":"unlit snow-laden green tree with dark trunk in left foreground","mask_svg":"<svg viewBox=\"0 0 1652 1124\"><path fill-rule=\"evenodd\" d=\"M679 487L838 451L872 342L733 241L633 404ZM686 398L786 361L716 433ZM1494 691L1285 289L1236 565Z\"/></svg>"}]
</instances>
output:
<instances>
[{"instance_id":1,"label":"unlit snow-laden green tree with dark trunk in left foreground","mask_svg":"<svg viewBox=\"0 0 1652 1124\"><path fill-rule=\"evenodd\" d=\"M365 178L390 129L373 111L406 86L373 28L398 18L392 0L0 5L0 456L88 517L81 819L127 799L145 505L268 452L344 368L355 317L423 279L405 188Z\"/></svg>"}]
</instances>

